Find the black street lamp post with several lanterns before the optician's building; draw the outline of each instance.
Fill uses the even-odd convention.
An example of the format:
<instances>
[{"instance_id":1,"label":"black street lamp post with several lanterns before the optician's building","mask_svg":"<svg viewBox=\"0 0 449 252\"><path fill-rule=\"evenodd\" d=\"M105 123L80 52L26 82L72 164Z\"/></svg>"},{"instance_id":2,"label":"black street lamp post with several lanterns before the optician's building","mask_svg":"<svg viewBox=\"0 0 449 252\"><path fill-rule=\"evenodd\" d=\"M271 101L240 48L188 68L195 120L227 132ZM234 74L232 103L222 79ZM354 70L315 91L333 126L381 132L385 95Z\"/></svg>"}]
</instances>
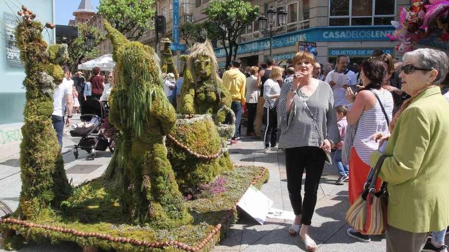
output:
<instances>
[{"instance_id":1,"label":"black street lamp post with several lanterns before the optician's building","mask_svg":"<svg viewBox=\"0 0 449 252\"><path fill-rule=\"evenodd\" d=\"M278 12L275 8L268 9L266 17L261 15L257 19L259 22L260 33L264 36L270 36L270 57L272 57L273 36L280 31L280 29L276 27L276 17L278 19L278 24L282 29L287 22L287 12L284 9L280 9Z\"/></svg>"}]
</instances>

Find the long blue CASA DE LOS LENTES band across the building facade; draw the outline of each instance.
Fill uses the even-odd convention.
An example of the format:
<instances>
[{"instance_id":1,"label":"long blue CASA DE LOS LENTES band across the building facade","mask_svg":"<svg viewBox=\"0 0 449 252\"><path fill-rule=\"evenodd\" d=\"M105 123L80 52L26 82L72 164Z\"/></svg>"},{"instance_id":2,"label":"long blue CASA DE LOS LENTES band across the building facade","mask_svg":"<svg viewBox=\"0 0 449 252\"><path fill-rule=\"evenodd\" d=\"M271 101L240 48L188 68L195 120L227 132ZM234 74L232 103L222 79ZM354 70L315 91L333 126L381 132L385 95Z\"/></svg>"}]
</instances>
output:
<instances>
[{"instance_id":1,"label":"long blue CASA DE LOS LENTES band across the building facade","mask_svg":"<svg viewBox=\"0 0 449 252\"><path fill-rule=\"evenodd\" d=\"M295 45L299 41L388 41L387 34L393 34L391 25L377 26L345 26L345 27L313 27L301 31L273 37L273 48ZM247 53L270 48L269 38L239 44L237 53ZM217 58L224 57L224 48L214 50Z\"/></svg>"}]
</instances>

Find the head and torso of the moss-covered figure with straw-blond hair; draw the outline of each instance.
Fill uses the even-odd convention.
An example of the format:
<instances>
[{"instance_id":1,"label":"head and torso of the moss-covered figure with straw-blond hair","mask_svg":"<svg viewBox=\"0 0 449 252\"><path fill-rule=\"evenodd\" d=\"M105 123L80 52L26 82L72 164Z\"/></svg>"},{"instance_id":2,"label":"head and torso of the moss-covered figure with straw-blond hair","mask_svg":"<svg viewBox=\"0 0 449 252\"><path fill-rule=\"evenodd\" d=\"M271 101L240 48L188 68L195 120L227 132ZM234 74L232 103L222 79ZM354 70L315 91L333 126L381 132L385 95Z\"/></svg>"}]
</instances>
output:
<instances>
[{"instance_id":1,"label":"head and torso of the moss-covered figure with straw-blond hair","mask_svg":"<svg viewBox=\"0 0 449 252\"><path fill-rule=\"evenodd\" d=\"M231 95L218 76L218 63L212 44L207 40L190 49L184 70L180 113L185 115L216 114L231 106ZM223 122L226 113L217 115Z\"/></svg>"}]
</instances>

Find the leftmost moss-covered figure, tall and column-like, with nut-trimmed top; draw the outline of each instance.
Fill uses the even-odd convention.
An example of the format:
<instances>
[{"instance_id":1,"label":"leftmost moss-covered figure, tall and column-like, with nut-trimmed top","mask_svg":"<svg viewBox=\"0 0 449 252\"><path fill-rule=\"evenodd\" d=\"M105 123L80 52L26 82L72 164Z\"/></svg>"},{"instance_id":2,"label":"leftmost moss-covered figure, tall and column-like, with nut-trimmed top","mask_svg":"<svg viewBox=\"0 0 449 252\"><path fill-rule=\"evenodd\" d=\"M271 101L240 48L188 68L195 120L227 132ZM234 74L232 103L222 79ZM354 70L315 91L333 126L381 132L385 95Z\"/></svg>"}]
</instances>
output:
<instances>
[{"instance_id":1,"label":"leftmost moss-covered figure, tall and column-like, with nut-trimmed top","mask_svg":"<svg viewBox=\"0 0 449 252\"><path fill-rule=\"evenodd\" d=\"M66 45L51 45L42 38L44 27L33 20L36 14L22 6L16 28L16 43L27 76L23 81L26 104L20 144L22 188L15 215L35 219L47 214L49 207L58 207L69 196L67 181L56 132L53 129L53 92L64 73L58 65L68 60ZM54 25L47 23L53 29Z\"/></svg>"}]
</instances>

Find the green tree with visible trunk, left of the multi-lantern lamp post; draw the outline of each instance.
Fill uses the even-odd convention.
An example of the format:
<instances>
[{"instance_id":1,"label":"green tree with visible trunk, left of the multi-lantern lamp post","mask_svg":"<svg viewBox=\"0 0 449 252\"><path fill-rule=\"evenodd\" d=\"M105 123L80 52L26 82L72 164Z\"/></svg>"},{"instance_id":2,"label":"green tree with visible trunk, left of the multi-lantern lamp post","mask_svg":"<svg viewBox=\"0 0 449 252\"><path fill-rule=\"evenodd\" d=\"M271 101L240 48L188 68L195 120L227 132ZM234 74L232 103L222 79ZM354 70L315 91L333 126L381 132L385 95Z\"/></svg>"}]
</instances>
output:
<instances>
[{"instance_id":1,"label":"green tree with visible trunk, left of the multi-lantern lamp post","mask_svg":"<svg viewBox=\"0 0 449 252\"><path fill-rule=\"evenodd\" d=\"M237 56L237 39L242 30L259 15L259 6L245 0L212 0L204 10L209 21L220 27L220 40L226 52L226 66Z\"/></svg>"}]
</instances>

